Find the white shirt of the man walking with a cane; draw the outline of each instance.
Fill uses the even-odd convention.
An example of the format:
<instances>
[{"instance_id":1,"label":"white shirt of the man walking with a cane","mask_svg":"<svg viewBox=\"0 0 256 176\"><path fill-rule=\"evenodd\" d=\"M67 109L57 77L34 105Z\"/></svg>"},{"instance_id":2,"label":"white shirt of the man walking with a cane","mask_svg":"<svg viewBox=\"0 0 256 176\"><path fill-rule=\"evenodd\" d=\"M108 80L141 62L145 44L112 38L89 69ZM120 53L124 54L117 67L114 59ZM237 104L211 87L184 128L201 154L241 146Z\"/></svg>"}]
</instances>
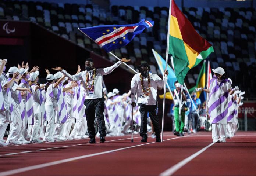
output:
<instances>
[{"instance_id":1,"label":"white shirt of the man walking with a cane","mask_svg":"<svg viewBox=\"0 0 256 176\"><path fill-rule=\"evenodd\" d=\"M162 80L157 74L149 73L150 78L150 95L149 96L140 96L144 95L141 87L141 78L140 74L135 74L131 81L131 98L132 102L135 102L135 93L137 93L138 103L146 105L156 105L156 96L157 96L157 87L164 87L164 80ZM143 77L143 86L145 87L148 83L148 79ZM148 85L147 87L148 88Z\"/></svg>"}]
</instances>

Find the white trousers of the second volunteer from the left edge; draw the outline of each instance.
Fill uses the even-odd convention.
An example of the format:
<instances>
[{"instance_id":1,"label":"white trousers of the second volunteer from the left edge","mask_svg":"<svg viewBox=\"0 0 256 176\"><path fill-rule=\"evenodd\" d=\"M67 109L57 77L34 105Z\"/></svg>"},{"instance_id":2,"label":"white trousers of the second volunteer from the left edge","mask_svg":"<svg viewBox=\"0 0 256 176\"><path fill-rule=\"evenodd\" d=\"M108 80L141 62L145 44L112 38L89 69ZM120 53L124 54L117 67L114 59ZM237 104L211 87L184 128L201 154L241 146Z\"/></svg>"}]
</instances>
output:
<instances>
[{"instance_id":1,"label":"white trousers of the second volunteer from the left edge","mask_svg":"<svg viewBox=\"0 0 256 176\"><path fill-rule=\"evenodd\" d=\"M15 139L19 139L22 137L22 119L21 119L21 112L19 111L19 107L13 105L13 113L14 113L14 119L10 124L10 133L7 137L7 141L12 141Z\"/></svg>"}]
</instances>

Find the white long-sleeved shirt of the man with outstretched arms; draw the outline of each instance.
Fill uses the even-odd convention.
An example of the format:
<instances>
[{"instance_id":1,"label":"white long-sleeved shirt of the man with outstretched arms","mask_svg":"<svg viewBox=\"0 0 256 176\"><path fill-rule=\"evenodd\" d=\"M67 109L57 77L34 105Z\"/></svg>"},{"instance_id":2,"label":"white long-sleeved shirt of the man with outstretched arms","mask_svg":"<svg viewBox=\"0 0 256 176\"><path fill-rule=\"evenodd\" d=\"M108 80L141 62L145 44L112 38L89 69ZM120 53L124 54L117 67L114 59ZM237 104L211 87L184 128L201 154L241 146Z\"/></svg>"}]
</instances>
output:
<instances>
[{"instance_id":1,"label":"white long-sleeved shirt of the man with outstretched arms","mask_svg":"<svg viewBox=\"0 0 256 176\"><path fill-rule=\"evenodd\" d=\"M85 79L86 79L86 73L88 71L83 71L75 75L70 75L66 70L61 70L61 73L63 73L66 77L68 77L71 81L79 81L82 80L83 87L85 88L86 92L86 98L85 99L97 99L102 98L102 76L110 74L115 68L120 66L122 64L121 61L115 63L114 65L107 67L107 68L100 68L96 69L96 76L94 80L94 92L92 94L89 94L89 90L86 88L85 85ZM93 70L89 71L89 84L92 83L93 78Z\"/></svg>"}]
</instances>

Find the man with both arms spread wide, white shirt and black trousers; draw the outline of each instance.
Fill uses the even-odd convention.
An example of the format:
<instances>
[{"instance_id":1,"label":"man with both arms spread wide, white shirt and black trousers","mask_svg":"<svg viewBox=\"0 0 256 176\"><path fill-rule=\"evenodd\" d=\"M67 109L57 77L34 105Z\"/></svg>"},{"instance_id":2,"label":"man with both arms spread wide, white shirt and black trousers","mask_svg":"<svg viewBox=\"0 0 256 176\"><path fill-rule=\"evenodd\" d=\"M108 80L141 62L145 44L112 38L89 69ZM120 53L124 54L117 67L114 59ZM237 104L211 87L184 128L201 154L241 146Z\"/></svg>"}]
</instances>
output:
<instances>
[{"instance_id":1,"label":"man with both arms spread wide, white shirt and black trousers","mask_svg":"<svg viewBox=\"0 0 256 176\"><path fill-rule=\"evenodd\" d=\"M86 59L85 68L86 71L80 72L71 76L61 67L56 67L55 70L61 71L68 77L68 79L72 81L82 80L83 87L86 91L85 98L85 114L88 126L88 133L90 135L90 143L95 143L95 128L94 128L94 120L95 114L99 123L99 131L100 131L100 142L105 142L106 136L106 126L103 116L104 111L104 97L102 94L102 76L111 73L115 68L121 65L122 62L129 62L125 58L122 58L121 61L115 63L111 67L95 69L94 63L91 58Z\"/></svg>"}]
</instances>

